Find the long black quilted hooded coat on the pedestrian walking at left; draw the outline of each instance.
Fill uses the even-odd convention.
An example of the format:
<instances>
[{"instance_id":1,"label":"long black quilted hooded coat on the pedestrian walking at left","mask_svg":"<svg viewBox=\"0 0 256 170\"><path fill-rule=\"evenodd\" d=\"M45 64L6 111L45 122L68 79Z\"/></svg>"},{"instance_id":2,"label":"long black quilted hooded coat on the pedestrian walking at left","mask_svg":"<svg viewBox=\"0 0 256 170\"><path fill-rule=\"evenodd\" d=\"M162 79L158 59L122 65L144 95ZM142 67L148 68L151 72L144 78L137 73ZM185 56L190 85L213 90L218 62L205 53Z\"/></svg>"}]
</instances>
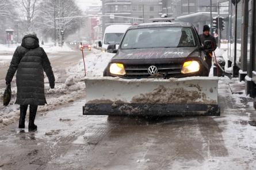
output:
<instances>
[{"instance_id":1,"label":"long black quilted hooded coat on the pedestrian walking at left","mask_svg":"<svg viewBox=\"0 0 256 170\"><path fill-rule=\"evenodd\" d=\"M34 35L26 35L21 46L17 47L6 74L6 83L12 82L16 74L18 105L45 105L44 71L53 88L55 83L51 63L39 47L39 40Z\"/></svg>"}]
</instances>

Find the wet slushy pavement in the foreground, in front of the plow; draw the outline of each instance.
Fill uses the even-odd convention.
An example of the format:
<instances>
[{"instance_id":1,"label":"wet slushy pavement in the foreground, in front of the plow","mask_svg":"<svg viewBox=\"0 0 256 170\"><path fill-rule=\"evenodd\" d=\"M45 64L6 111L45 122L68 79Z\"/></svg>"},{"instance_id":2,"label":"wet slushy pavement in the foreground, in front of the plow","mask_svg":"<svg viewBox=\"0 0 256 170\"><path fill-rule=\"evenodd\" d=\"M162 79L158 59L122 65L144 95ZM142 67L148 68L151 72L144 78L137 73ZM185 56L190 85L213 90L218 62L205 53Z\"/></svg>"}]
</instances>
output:
<instances>
[{"instance_id":1,"label":"wet slushy pavement in the foreground, in front of the plow","mask_svg":"<svg viewBox=\"0 0 256 170\"><path fill-rule=\"evenodd\" d=\"M0 169L255 169L255 110L227 81L220 117L85 116L80 99L39 113L37 132L13 123L0 130Z\"/></svg>"}]
</instances>

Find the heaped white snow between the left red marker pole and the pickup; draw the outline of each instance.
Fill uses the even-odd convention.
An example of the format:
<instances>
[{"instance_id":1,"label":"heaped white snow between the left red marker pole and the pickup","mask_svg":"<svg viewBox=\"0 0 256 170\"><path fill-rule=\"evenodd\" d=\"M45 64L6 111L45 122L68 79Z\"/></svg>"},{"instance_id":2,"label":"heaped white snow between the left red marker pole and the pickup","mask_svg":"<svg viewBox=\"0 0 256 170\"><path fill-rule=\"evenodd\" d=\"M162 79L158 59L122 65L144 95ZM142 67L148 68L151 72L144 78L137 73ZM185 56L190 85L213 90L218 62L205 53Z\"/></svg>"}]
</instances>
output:
<instances>
[{"instance_id":1,"label":"heaped white snow between the left red marker pole and the pickup","mask_svg":"<svg viewBox=\"0 0 256 170\"><path fill-rule=\"evenodd\" d=\"M114 53L94 52L86 56L86 76L102 76Z\"/></svg>"}]
</instances>

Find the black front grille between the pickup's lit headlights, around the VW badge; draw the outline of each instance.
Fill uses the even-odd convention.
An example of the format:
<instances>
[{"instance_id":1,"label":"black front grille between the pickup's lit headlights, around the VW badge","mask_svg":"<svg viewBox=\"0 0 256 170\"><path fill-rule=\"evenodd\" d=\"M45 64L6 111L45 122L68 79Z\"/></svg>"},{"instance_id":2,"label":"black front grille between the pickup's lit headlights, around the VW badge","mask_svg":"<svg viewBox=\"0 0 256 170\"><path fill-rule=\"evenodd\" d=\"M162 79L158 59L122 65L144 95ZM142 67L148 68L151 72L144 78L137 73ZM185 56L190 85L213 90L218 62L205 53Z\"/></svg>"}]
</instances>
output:
<instances>
[{"instance_id":1,"label":"black front grille between the pickup's lit headlights, around the VW badge","mask_svg":"<svg viewBox=\"0 0 256 170\"><path fill-rule=\"evenodd\" d=\"M127 78L148 78L148 67L155 65L159 74L166 74L173 77L181 74L181 64L146 64L146 65L124 65Z\"/></svg>"}]
</instances>

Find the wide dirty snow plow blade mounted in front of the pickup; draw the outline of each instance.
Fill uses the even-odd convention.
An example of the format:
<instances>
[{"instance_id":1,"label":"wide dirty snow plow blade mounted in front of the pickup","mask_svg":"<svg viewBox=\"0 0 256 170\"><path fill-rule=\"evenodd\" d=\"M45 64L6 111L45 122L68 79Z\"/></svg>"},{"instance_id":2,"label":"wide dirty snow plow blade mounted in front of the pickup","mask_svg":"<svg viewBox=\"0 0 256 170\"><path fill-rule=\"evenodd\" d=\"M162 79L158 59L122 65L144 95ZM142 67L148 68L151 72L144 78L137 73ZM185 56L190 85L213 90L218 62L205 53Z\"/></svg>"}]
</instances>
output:
<instances>
[{"instance_id":1,"label":"wide dirty snow plow blade mounted in front of the pickup","mask_svg":"<svg viewBox=\"0 0 256 170\"><path fill-rule=\"evenodd\" d=\"M85 115L220 115L218 79L86 78Z\"/></svg>"}]
</instances>

